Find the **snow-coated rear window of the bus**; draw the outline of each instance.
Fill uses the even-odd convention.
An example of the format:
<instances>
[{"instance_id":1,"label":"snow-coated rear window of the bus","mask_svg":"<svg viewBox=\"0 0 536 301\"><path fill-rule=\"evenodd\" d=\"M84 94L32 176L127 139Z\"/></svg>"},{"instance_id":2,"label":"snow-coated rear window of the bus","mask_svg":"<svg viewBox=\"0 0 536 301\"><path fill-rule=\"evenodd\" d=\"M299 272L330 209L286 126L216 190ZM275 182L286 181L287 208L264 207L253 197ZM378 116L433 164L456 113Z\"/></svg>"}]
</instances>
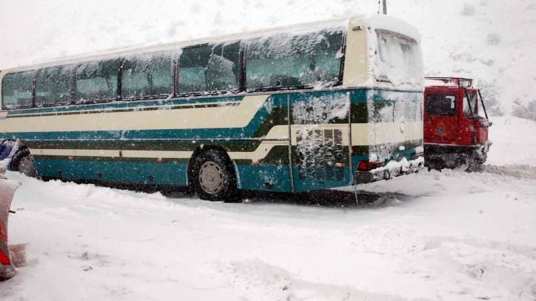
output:
<instances>
[{"instance_id":1,"label":"snow-coated rear window of the bus","mask_svg":"<svg viewBox=\"0 0 536 301\"><path fill-rule=\"evenodd\" d=\"M423 60L417 42L401 34L376 30L375 78L393 85L423 84Z\"/></svg>"}]
</instances>

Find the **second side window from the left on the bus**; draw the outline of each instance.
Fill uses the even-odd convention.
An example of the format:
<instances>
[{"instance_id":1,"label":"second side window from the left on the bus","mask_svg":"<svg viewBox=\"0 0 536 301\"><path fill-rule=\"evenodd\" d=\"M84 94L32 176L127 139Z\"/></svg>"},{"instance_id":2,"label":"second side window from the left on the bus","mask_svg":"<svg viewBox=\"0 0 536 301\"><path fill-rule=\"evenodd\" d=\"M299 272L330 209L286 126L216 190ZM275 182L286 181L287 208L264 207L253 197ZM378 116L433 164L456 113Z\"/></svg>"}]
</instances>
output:
<instances>
[{"instance_id":1,"label":"second side window from the left on the bus","mask_svg":"<svg viewBox=\"0 0 536 301\"><path fill-rule=\"evenodd\" d=\"M71 101L71 72L74 66L40 69L36 76L37 107L65 104Z\"/></svg>"}]
</instances>

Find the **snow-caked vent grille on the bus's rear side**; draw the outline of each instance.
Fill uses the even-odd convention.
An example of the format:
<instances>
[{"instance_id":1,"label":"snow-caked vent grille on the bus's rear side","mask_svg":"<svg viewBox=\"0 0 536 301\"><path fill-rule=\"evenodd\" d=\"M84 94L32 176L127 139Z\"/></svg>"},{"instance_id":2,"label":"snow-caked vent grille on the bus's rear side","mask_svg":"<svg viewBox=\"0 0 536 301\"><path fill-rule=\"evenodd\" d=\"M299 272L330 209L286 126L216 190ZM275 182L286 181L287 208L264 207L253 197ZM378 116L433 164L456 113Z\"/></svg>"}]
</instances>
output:
<instances>
[{"instance_id":1,"label":"snow-caked vent grille on the bus's rear side","mask_svg":"<svg viewBox=\"0 0 536 301\"><path fill-rule=\"evenodd\" d=\"M341 130L300 130L296 142L298 179L316 179L320 183L344 180L344 168L335 166L346 161Z\"/></svg>"}]
</instances>

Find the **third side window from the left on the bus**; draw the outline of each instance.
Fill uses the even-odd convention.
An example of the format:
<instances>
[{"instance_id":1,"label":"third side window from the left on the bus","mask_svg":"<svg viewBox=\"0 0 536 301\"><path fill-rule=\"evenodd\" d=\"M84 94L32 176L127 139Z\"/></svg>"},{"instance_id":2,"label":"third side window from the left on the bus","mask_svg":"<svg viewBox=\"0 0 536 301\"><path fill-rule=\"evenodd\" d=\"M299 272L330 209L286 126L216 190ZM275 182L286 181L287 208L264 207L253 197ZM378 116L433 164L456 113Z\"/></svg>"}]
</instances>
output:
<instances>
[{"instance_id":1,"label":"third side window from the left on the bus","mask_svg":"<svg viewBox=\"0 0 536 301\"><path fill-rule=\"evenodd\" d=\"M76 102L114 100L118 93L119 59L84 63L76 69Z\"/></svg>"}]
</instances>

